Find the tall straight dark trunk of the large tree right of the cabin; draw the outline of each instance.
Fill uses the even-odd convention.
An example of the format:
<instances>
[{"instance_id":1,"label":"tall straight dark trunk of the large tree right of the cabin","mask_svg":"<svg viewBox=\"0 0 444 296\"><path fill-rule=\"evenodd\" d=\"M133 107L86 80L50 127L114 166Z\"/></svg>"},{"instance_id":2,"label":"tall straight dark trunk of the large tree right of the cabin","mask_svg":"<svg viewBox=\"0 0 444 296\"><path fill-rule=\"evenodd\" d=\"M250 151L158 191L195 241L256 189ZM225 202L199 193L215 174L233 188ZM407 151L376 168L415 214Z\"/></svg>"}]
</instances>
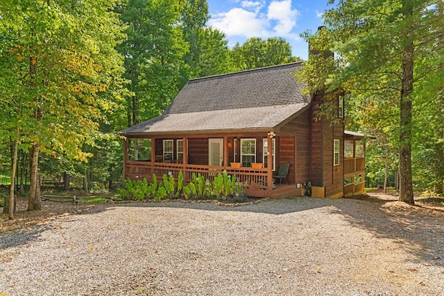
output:
<instances>
[{"instance_id":1,"label":"tall straight dark trunk of the large tree right of the cabin","mask_svg":"<svg viewBox=\"0 0 444 296\"><path fill-rule=\"evenodd\" d=\"M413 15L411 0L402 1L404 16ZM400 99L400 202L415 204L411 178L411 97L413 91L413 22L404 36L402 53L402 81Z\"/></svg>"}]
</instances>

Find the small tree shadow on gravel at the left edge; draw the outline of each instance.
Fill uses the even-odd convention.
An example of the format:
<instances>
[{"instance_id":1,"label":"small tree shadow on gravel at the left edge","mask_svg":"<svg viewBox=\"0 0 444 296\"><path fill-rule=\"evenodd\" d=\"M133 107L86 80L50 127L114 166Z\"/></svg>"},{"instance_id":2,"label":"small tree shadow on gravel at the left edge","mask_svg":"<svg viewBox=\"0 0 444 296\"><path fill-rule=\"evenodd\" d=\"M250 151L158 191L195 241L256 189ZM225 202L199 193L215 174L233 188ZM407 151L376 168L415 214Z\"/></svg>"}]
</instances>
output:
<instances>
[{"instance_id":1,"label":"small tree shadow on gravel at the left edge","mask_svg":"<svg viewBox=\"0 0 444 296\"><path fill-rule=\"evenodd\" d=\"M53 229L50 224L33 225L23 229L8 231L1 233L0 236L0 251L8 249L9 247L19 247L21 245L28 245L31 242L40 240L40 233Z\"/></svg>"}]
</instances>

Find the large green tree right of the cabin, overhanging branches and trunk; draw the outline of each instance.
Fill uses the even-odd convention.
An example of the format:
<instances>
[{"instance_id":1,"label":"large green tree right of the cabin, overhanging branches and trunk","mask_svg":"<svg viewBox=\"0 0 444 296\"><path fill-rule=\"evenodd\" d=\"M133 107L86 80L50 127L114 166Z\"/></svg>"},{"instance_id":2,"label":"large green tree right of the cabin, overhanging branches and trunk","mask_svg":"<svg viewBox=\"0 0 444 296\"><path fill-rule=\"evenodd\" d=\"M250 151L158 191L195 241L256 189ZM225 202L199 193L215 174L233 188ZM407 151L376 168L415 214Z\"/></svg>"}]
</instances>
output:
<instances>
[{"instance_id":1,"label":"large green tree right of the cabin, overhanging branches and trunk","mask_svg":"<svg viewBox=\"0 0 444 296\"><path fill-rule=\"evenodd\" d=\"M437 38L443 35L444 26L437 4L436 0L339 1L323 15L327 28L305 35L318 50L338 53L328 68L326 90L341 89L399 102L400 201L409 204L414 203L412 103L437 100L438 85L443 81L438 73L444 65L444 46ZM313 73L319 69L314 61L308 65ZM418 90L430 84L430 97L425 97ZM314 91L313 86L316 83L309 83L308 92Z\"/></svg>"}]
</instances>

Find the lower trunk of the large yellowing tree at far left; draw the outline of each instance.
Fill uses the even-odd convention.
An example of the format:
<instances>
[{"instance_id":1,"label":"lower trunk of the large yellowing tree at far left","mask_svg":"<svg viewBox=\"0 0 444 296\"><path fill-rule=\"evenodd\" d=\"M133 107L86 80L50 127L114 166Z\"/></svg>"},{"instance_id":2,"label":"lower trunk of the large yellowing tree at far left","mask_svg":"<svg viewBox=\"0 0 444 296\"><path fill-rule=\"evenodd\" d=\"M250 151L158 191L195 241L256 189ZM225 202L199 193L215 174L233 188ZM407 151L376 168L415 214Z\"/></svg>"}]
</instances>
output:
<instances>
[{"instance_id":1,"label":"lower trunk of the large yellowing tree at far left","mask_svg":"<svg viewBox=\"0 0 444 296\"><path fill-rule=\"evenodd\" d=\"M30 189L28 199L28 211L39 211L42 209L42 199L40 197L40 178L39 178L39 145L33 145L29 154L30 158Z\"/></svg>"}]
</instances>

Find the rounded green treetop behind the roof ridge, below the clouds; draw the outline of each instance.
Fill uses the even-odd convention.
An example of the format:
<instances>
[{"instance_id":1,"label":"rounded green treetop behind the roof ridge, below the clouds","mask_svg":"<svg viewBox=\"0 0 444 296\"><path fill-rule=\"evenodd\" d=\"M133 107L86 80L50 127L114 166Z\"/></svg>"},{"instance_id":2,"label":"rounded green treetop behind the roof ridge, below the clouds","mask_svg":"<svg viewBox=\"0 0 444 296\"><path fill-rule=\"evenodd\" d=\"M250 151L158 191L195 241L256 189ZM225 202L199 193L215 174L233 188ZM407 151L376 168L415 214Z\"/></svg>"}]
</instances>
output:
<instances>
[{"instance_id":1,"label":"rounded green treetop behind the roof ridge, below the clouds","mask_svg":"<svg viewBox=\"0 0 444 296\"><path fill-rule=\"evenodd\" d=\"M232 63L237 70L255 69L299 61L291 56L291 46L284 38L250 38L232 49Z\"/></svg>"}]
</instances>

